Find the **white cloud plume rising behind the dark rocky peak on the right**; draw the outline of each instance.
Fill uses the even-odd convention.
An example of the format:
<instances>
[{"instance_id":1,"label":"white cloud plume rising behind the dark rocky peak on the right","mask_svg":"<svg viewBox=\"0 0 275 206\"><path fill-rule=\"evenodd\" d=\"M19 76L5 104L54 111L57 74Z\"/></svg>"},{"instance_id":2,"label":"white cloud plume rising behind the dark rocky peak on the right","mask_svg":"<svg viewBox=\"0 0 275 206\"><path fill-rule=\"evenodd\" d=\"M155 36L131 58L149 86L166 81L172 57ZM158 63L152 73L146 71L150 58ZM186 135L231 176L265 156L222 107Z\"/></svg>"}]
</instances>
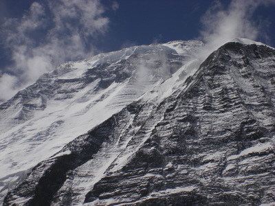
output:
<instances>
[{"instance_id":1,"label":"white cloud plume rising behind the dark rocky peak on the right","mask_svg":"<svg viewBox=\"0 0 275 206\"><path fill-rule=\"evenodd\" d=\"M224 9L220 1L215 1L214 5L201 18L203 25L200 31L200 39L206 43L201 52L201 56L207 57L215 49L221 47L234 38L265 38L261 22L252 21L252 15L260 5L275 4L274 0L233 0ZM261 31L261 32L260 32Z\"/></svg>"}]
</instances>

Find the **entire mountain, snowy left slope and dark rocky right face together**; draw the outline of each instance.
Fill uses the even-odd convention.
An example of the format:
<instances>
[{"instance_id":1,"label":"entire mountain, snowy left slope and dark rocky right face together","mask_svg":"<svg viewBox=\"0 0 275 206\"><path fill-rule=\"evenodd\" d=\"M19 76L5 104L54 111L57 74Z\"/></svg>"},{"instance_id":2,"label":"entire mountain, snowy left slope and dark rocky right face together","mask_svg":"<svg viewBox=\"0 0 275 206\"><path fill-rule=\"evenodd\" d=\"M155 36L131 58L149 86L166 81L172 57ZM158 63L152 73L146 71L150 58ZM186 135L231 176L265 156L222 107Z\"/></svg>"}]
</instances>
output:
<instances>
[{"instance_id":1,"label":"entire mountain, snowy left slope and dark rocky right face together","mask_svg":"<svg viewBox=\"0 0 275 206\"><path fill-rule=\"evenodd\" d=\"M69 62L1 104L3 188L30 172L3 205L273 205L275 49L201 47Z\"/></svg>"}]
</instances>

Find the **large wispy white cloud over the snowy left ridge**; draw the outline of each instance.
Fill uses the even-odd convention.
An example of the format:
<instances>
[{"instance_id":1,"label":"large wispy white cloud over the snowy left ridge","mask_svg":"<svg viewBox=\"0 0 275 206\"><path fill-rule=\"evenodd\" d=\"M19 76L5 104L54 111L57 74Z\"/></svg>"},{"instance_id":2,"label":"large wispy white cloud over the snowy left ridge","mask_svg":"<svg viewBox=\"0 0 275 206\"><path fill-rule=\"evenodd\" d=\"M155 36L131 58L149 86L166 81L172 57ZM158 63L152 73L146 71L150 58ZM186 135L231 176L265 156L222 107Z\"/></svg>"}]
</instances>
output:
<instances>
[{"instance_id":1,"label":"large wispy white cloud over the snowy left ridge","mask_svg":"<svg viewBox=\"0 0 275 206\"><path fill-rule=\"evenodd\" d=\"M111 7L117 10L118 3ZM62 62L98 52L94 43L109 25L105 10L99 0L43 1L21 19L7 19L1 36L14 64L1 74L0 102Z\"/></svg>"}]
</instances>

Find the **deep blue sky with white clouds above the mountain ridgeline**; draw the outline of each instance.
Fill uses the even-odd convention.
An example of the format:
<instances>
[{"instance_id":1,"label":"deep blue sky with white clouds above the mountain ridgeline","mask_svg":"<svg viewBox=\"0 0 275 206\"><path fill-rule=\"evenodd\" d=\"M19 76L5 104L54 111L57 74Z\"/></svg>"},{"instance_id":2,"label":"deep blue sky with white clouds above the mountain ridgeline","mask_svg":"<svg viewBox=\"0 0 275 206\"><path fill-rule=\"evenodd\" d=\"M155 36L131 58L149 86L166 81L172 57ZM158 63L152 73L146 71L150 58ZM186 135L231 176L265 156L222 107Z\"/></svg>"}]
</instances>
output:
<instances>
[{"instance_id":1,"label":"deep blue sky with white clouds above the mountain ridgeline","mask_svg":"<svg viewBox=\"0 0 275 206\"><path fill-rule=\"evenodd\" d=\"M275 0L1 0L0 102L67 60L131 45L234 37L275 47Z\"/></svg>"}]
</instances>

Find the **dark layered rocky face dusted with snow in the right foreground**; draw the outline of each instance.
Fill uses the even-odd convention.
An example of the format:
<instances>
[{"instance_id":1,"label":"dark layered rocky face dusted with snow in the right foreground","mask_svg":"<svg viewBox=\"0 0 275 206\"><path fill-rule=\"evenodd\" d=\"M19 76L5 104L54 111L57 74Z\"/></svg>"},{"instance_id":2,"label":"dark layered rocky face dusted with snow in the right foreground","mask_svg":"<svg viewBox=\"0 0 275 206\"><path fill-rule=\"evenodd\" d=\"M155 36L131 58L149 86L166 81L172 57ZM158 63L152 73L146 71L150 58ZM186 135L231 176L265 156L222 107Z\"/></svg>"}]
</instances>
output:
<instances>
[{"instance_id":1,"label":"dark layered rocky face dusted with snow in the right foreground","mask_svg":"<svg viewBox=\"0 0 275 206\"><path fill-rule=\"evenodd\" d=\"M3 205L272 205L275 50L227 43L178 77L41 161Z\"/></svg>"}]
</instances>

